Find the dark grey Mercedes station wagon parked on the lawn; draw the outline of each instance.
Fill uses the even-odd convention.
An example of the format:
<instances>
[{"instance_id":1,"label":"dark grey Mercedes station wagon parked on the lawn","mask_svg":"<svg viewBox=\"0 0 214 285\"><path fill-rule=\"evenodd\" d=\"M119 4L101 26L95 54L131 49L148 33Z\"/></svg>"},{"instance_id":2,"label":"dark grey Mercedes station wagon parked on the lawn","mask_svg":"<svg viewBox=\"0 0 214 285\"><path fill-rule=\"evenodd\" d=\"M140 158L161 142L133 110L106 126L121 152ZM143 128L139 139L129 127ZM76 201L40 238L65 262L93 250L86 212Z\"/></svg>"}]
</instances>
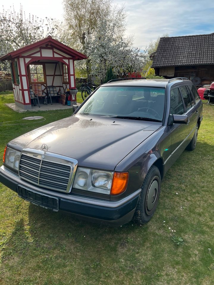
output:
<instances>
[{"instance_id":1,"label":"dark grey Mercedes station wagon parked on the lawn","mask_svg":"<svg viewBox=\"0 0 214 285\"><path fill-rule=\"evenodd\" d=\"M111 80L71 117L8 143L0 181L43 208L146 223L161 179L195 148L201 121L202 101L187 78Z\"/></svg>"}]
</instances>

